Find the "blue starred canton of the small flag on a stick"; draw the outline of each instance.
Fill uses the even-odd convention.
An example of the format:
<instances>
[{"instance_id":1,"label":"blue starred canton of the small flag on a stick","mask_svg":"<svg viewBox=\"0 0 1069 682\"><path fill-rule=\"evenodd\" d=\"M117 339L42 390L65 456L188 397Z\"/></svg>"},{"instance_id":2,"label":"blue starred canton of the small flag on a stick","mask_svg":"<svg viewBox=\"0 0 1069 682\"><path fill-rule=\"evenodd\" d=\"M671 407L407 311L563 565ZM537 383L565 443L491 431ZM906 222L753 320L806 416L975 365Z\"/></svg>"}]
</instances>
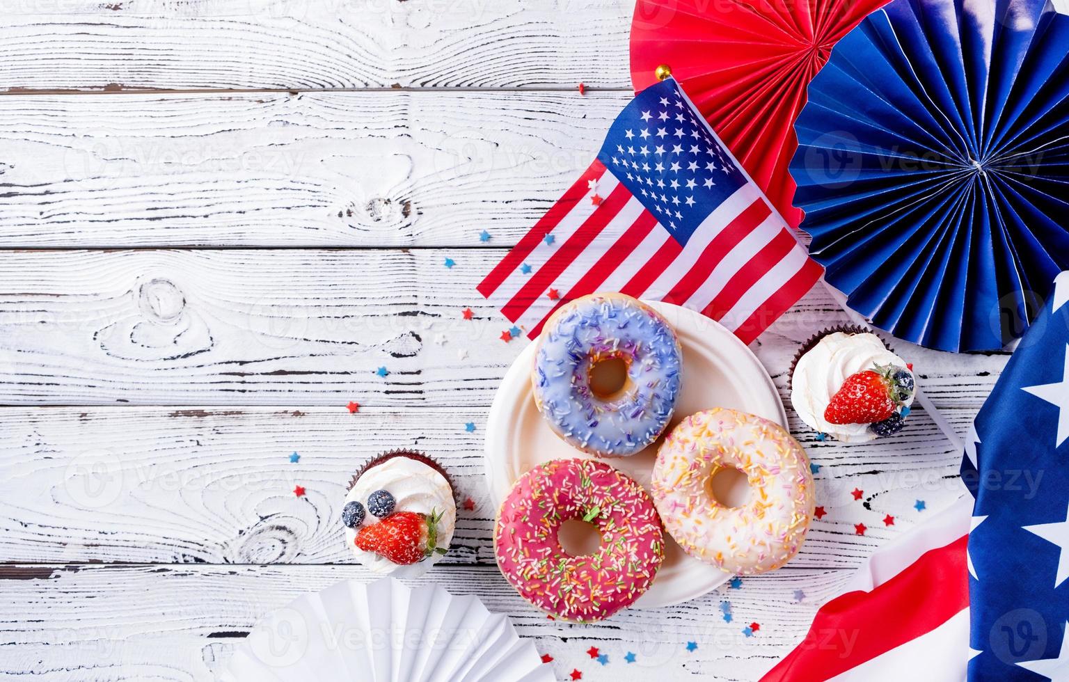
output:
<instances>
[{"instance_id":1,"label":"blue starred canton of the small flag on a stick","mask_svg":"<svg viewBox=\"0 0 1069 682\"><path fill-rule=\"evenodd\" d=\"M598 160L682 245L746 184L670 78L628 105L609 128Z\"/></svg>"}]
</instances>

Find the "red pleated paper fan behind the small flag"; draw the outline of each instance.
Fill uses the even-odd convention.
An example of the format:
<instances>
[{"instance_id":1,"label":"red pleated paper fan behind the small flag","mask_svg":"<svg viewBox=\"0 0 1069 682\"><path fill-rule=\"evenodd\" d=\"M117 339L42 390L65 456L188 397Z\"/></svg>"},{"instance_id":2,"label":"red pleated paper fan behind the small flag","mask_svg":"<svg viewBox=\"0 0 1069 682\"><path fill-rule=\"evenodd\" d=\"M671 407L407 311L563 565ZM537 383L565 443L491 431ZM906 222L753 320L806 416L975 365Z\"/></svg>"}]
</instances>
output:
<instances>
[{"instance_id":1,"label":"red pleated paper fan behind the small flag","mask_svg":"<svg viewBox=\"0 0 1069 682\"><path fill-rule=\"evenodd\" d=\"M743 167L794 227L788 166L806 88L832 47L887 0L638 0L635 90L666 64Z\"/></svg>"}]
</instances>

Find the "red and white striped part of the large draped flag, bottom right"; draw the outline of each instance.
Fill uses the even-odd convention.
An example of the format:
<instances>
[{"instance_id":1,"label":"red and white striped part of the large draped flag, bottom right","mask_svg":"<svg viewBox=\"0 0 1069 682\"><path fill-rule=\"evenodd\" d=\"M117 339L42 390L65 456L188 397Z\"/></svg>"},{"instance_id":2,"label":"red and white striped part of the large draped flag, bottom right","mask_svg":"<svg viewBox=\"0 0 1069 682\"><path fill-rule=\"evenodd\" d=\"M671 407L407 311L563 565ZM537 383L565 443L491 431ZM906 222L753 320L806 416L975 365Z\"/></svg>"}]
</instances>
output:
<instances>
[{"instance_id":1,"label":"red and white striped part of the large draped flag, bottom right","mask_svg":"<svg viewBox=\"0 0 1069 682\"><path fill-rule=\"evenodd\" d=\"M965 680L973 498L877 551L761 682Z\"/></svg>"}]
</instances>

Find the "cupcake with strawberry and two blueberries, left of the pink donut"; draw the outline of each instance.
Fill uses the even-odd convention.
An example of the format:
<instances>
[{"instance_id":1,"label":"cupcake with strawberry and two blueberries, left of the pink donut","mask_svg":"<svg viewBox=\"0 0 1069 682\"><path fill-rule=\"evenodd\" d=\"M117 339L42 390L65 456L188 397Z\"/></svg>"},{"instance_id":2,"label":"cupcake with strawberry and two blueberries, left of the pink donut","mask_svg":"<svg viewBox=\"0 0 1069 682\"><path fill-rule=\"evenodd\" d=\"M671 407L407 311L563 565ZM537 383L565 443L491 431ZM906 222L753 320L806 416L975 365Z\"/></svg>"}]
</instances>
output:
<instances>
[{"instance_id":1,"label":"cupcake with strawberry and two blueberries, left of the pink donut","mask_svg":"<svg viewBox=\"0 0 1069 682\"><path fill-rule=\"evenodd\" d=\"M419 577L453 539L456 500L449 476L421 452L382 454L353 477L342 524L359 563L375 573Z\"/></svg>"}]
</instances>

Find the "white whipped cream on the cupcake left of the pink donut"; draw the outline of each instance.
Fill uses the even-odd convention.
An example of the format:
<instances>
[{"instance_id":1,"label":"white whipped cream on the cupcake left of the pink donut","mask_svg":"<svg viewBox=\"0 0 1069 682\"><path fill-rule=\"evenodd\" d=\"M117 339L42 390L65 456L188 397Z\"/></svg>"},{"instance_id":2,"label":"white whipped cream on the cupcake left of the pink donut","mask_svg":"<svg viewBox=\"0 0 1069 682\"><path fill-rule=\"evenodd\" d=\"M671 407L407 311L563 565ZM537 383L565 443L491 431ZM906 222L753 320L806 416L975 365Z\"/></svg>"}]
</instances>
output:
<instances>
[{"instance_id":1,"label":"white whipped cream on the cupcake left of the pink donut","mask_svg":"<svg viewBox=\"0 0 1069 682\"><path fill-rule=\"evenodd\" d=\"M394 456L382 464L376 464L365 471L356 481L343 505L352 501L360 502L367 508L368 496L375 491L388 491L396 500L396 511L410 511L431 515L431 512L441 514L438 522L438 546L448 548L456 527L456 501L453 489L441 474L433 467L410 460L406 456ZM378 520L366 514L363 526L377 524ZM432 554L419 563L398 565L373 552L365 552L356 546L356 532L360 529L345 529L345 544L356 556L356 560L375 573L389 574L398 578L416 578L435 564L439 554Z\"/></svg>"}]
</instances>

